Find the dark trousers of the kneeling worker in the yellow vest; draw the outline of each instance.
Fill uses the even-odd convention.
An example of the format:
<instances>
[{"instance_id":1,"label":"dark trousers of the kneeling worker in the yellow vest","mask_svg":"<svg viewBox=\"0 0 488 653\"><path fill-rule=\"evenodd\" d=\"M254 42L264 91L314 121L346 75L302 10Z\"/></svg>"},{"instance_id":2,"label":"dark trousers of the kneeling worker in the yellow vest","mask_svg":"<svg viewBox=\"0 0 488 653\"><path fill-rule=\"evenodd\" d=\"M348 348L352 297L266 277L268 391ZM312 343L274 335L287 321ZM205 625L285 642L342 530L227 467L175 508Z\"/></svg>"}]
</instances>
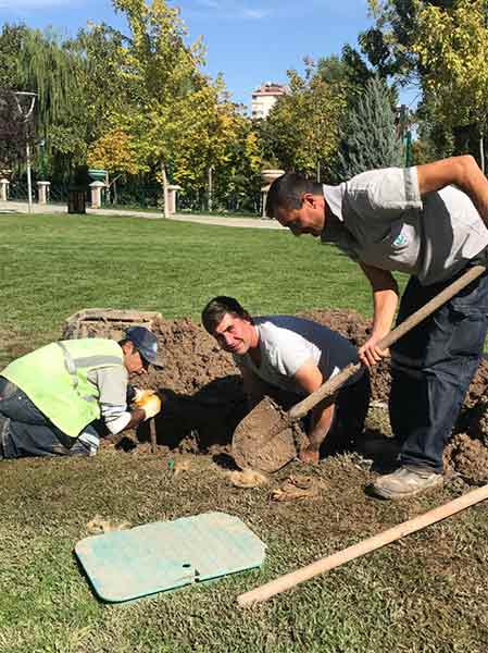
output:
<instances>
[{"instance_id":1,"label":"dark trousers of the kneeling worker in the yellow vest","mask_svg":"<svg viewBox=\"0 0 488 653\"><path fill-rule=\"evenodd\" d=\"M0 377L0 458L89 454L83 442L60 431L22 390Z\"/></svg>"}]
</instances>

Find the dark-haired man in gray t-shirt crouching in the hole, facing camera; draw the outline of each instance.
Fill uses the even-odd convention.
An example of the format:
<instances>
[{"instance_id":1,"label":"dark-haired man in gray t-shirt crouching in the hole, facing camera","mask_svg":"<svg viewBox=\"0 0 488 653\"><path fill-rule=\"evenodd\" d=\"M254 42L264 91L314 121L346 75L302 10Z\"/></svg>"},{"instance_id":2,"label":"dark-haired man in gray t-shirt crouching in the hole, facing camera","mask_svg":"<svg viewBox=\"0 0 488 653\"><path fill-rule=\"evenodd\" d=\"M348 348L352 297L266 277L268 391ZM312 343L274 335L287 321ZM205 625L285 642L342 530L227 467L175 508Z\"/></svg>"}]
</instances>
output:
<instances>
[{"instance_id":1,"label":"dark-haired man in gray t-shirt crouching in the hole, facing camera","mask_svg":"<svg viewBox=\"0 0 488 653\"><path fill-rule=\"evenodd\" d=\"M251 318L233 297L214 297L202 322L218 345L233 355L251 407L265 394L298 403L350 362L358 353L349 341L327 326L292 316ZM286 401L285 399L285 401ZM360 370L338 395L312 409L303 461L316 463L323 453L349 448L361 434L370 401L368 373Z\"/></svg>"}]
</instances>

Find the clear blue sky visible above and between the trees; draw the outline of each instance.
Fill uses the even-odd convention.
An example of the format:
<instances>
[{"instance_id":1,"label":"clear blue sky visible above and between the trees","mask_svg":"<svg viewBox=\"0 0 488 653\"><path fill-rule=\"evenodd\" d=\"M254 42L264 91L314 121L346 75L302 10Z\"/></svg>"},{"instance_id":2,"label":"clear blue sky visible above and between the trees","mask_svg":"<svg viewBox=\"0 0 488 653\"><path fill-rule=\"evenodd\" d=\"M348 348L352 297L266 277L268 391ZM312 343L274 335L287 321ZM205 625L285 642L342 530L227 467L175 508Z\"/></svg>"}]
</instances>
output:
<instances>
[{"instance_id":1,"label":"clear blue sky visible above and between the trees","mask_svg":"<svg viewBox=\"0 0 488 653\"><path fill-rule=\"evenodd\" d=\"M233 100L248 107L261 83L286 83L286 71L302 71L304 57L340 54L343 45L355 46L359 33L372 25L366 0L173 0L168 4L179 8L190 41L203 37L207 72L212 77L223 73ZM53 26L73 36L87 21L125 30L110 0L0 0L0 23Z\"/></svg>"}]
</instances>

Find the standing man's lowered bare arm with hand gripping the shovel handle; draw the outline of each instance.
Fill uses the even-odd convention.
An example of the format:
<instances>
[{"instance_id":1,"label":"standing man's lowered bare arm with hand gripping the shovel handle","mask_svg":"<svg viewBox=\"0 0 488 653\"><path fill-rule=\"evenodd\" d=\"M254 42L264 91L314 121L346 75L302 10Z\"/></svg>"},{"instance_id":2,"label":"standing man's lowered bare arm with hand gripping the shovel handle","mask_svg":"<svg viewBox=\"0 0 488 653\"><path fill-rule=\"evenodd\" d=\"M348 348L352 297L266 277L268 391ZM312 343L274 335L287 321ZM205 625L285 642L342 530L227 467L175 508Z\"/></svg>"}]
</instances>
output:
<instances>
[{"instance_id":1,"label":"standing man's lowered bare arm with hand gripping the shovel handle","mask_svg":"<svg viewBox=\"0 0 488 653\"><path fill-rule=\"evenodd\" d=\"M374 366L388 356L379 349L378 342L389 333L398 305L398 284L388 270L380 270L366 263L360 263L373 289L373 330L370 338L359 350L361 362Z\"/></svg>"}]
</instances>

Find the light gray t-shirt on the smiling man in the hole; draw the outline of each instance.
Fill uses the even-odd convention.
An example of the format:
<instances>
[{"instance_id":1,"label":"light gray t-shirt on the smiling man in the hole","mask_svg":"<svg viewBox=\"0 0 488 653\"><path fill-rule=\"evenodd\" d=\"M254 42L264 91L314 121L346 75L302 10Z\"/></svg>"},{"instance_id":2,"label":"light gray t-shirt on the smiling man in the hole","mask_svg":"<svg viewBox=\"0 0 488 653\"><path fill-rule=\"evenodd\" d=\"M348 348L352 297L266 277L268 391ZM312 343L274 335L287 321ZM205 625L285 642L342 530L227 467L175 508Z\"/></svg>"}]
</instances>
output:
<instances>
[{"instance_id":1,"label":"light gray t-shirt on the smiling man in the hole","mask_svg":"<svg viewBox=\"0 0 488 653\"><path fill-rule=\"evenodd\" d=\"M239 368L247 368L261 380L305 396L295 374L309 360L321 370L324 381L350 362L358 362L358 352L342 335L327 326L293 316L253 318L260 336L261 365L255 366L249 354L234 355ZM360 370L348 384L362 375Z\"/></svg>"}]
</instances>

